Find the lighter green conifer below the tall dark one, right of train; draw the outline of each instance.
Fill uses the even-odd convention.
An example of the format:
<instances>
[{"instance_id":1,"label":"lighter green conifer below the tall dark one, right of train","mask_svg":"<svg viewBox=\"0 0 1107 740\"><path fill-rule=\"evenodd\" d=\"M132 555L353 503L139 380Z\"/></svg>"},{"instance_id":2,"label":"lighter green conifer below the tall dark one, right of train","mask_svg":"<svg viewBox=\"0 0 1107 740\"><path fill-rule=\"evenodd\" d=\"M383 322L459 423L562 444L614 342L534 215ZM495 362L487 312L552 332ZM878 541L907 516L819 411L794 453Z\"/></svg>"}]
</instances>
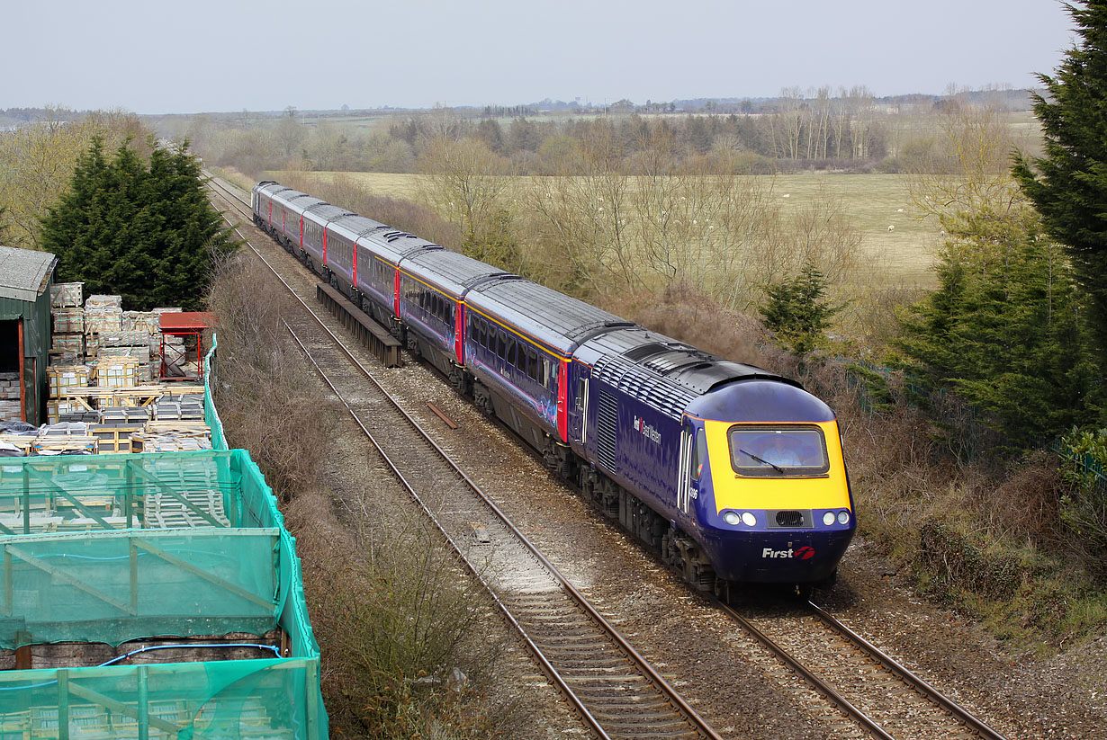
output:
<instances>
[{"instance_id":1,"label":"lighter green conifer below the tall dark one, right of train","mask_svg":"<svg viewBox=\"0 0 1107 740\"><path fill-rule=\"evenodd\" d=\"M904 321L911 369L955 388L1018 445L1083 420L1095 373L1059 246L1030 209L965 215L952 236L939 289Z\"/></svg>"}]
</instances>

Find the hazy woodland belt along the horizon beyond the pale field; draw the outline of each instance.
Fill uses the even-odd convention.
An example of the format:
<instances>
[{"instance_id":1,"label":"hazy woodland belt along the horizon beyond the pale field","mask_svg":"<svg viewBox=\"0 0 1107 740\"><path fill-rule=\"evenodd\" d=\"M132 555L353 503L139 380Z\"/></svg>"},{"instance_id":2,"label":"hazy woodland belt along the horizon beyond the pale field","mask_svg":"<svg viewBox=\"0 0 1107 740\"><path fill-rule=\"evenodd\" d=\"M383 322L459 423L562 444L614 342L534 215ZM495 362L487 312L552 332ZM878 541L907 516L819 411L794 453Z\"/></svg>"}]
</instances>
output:
<instances>
[{"instance_id":1,"label":"hazy woodland belt along the horizon beyond the pale field","mask_svg":"<svg viewBox=\"0 0 1107 740\"><path fill-rule=\"evenodd\" d=\"M417 171L428 142L441 136L482 142L498 165L516 175L573 174L575 150L608 132L633 166L646 136L668 136L682 160L727 153L735 174L834 169L897 173L941 166L933 161L935 122L955 101L990 105L1028 117L1025 91L961 92L944 96L876 98L868 88L786 90L772 101L724 106L713 101L683 112L655 113L653 104L617 103L580 115L487 115L439 108L375 118L370 127L349 114L308 117L289 107L258 114L164 119L159 131L188 137L211 164L258 169ZM723 108L732 108L730 112Z\"/></svg>"}]
</instances>

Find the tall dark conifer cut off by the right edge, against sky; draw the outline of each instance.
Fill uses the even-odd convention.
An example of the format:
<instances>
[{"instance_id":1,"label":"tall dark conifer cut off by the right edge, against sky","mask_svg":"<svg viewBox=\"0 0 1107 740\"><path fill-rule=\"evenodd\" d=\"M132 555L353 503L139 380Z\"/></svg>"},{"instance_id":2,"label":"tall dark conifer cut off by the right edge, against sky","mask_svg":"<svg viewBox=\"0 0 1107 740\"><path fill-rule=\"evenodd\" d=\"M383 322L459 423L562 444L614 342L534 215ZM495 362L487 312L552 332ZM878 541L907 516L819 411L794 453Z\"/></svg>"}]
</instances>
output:
<instances>
[{"instance_id":1,"label":"tall dark conifer cut off by the right edge, against sky","mask_svg":"<svg viewBox=\"0 0 1107 740\"><path fill-rule=\"evenodd\" d=\"M1107 1L1066 8L1082 39L1056 76L1038 75L1048 91L1034 96L1045 156L1016 156L1013 171L1073 260L1107 368Z\"/></svg>"}]
</instances>

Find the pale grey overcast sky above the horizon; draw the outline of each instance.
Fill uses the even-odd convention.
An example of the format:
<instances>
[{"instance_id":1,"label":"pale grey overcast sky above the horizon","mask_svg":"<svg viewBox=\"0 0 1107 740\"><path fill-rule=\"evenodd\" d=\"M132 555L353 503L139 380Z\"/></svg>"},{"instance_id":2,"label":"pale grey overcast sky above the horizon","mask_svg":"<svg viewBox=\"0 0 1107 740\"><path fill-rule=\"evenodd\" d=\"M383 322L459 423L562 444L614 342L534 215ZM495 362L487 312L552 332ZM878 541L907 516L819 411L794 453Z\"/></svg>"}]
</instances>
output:
<instances>
[{"instance_id":1,"label":"pale grey overcast sky above the horizon","mask_svg":"<svg viewBox=\"0 0 1107 740\"><path fill-rule=\"evenodd\" d=\"M7 2L0 108L135 113L1035 84L1055 0Z\"/></svg>"}]
</instances>

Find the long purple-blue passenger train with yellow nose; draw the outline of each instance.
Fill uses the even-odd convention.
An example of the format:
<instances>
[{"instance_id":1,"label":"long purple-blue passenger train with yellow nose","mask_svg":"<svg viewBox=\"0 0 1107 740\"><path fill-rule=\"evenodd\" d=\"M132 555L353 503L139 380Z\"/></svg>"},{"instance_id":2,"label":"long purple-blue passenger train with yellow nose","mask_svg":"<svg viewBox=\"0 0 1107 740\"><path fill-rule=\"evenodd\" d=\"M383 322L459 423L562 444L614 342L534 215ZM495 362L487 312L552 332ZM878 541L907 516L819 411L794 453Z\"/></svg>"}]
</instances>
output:
<instances>
[{"instance_id":1,"label":"long purple-blue passenger train with yellow nose","mask_svg":"<svg viewBox=\"0 0 1107 740\"><path fill-rule=\"evenodd\" d=\"M834 583L853 499L837 417L799 383L276 181L251 208L694 587Z\"/></svg>"}]
</instances>

